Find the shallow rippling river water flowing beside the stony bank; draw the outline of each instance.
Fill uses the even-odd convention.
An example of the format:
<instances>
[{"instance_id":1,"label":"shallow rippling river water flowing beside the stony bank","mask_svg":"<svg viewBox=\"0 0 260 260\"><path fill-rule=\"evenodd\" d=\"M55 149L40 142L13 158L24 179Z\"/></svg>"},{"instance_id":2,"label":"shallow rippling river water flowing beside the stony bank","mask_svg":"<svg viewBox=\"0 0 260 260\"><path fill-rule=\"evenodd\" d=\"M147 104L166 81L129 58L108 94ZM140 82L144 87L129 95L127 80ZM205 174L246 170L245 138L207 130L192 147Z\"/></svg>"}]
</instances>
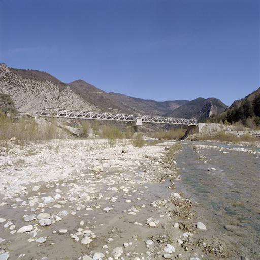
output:
<instances>
[{"instance_id":1,"label":"shallow rippling river water flowing beside the stony bank","mask_svg":"<svg viewBox=\"0 0 260 260\"><path fill-rule=\"evenodd\" d=\"M260 259L260 155L183 147L176 189L201 205L198 214L236 250Z\"/></svg>"}]
</instances>

